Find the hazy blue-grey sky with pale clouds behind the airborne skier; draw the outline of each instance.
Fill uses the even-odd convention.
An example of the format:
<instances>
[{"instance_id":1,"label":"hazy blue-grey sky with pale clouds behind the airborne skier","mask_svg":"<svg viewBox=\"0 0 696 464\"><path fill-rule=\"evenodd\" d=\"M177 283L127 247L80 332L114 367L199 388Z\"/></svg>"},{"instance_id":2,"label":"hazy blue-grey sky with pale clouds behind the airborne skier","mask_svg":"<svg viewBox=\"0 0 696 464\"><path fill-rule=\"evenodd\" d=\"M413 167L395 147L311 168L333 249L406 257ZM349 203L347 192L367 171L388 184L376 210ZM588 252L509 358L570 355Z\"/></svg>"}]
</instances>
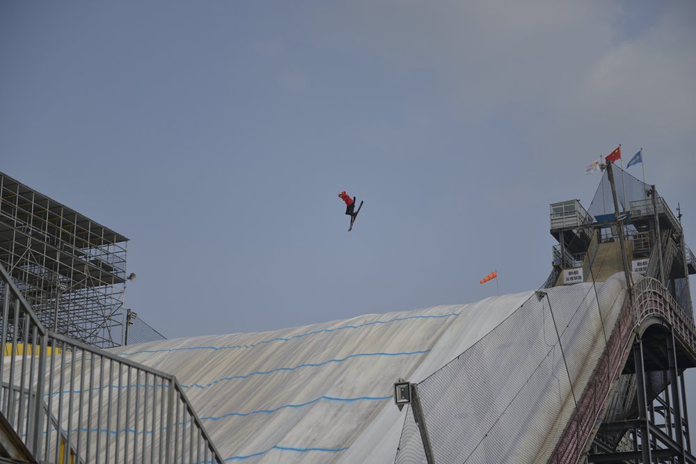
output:
<instances>
[{"instance_id":1,"label":"hazy blue-grey sky with pale clouds behind the airborne skier","mask_svg":"<svg viewBox=\"0 0 696 464\"><path fill-rule=\"evenodd\" d=\"M127 306L168 338L478 301L494 269L536 289L548 205L589 207L619 143L696 247L695 22L688 0L6 0L0 170L129 237Z\"/></svg>"}]
</instances>

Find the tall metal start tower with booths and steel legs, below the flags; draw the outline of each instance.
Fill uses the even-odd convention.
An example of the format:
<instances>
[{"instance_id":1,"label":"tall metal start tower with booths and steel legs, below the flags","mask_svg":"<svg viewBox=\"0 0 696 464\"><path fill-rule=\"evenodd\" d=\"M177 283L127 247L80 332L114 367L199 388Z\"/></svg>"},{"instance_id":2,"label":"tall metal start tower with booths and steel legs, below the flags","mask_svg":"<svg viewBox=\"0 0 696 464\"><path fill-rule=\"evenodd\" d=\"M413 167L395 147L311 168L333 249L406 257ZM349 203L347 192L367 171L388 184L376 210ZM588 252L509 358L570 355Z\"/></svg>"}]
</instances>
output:
<instances>
[{"instance_id":1,"label":"tall metal start tower with booths and steel legs, below the flags","mask_svg":"<svg viewBox=\"0 0 696 464\"><path fill-rule=\"evenodd\" d=\"M689 288L696 259L681 223L654 186L608 165L589 211L577 200L551 205L551 234L559 241L553 248L556 285L623 271L631 301L625 329L615 330L606 357L617 378L593 384L606 383L608 392L587 403L599 410L584 431L589 442L580 436L580 419L571 422L550 462L583 456L588 463L696 464L683 377L696 367ZM633 276L638 283L631 289ZM587 410L578 417L583 414L590 417Z\"/></svg>"}]
</instances>

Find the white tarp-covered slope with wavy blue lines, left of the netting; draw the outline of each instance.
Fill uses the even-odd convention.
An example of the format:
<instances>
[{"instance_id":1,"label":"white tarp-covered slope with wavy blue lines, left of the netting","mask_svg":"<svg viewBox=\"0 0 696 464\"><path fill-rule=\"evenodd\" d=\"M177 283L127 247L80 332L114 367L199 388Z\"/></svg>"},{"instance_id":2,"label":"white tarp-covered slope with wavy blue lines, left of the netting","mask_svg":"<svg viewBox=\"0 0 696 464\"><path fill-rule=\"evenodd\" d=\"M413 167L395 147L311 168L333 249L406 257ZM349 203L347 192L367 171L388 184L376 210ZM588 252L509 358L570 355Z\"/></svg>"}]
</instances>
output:
<instances>
[{"instance_id":1,"label":"white tarp-covered slope with wavy blue lines, left of the netting","mask_svg":"<svg viewBox=\"0 0 696 464\"><path fill-rule=\"evenodd\" d=\"M532 295L113 351L174 374L227 462L388 463L406 414L393 383L429 376Z\"/></svg>"}]
</instances>

